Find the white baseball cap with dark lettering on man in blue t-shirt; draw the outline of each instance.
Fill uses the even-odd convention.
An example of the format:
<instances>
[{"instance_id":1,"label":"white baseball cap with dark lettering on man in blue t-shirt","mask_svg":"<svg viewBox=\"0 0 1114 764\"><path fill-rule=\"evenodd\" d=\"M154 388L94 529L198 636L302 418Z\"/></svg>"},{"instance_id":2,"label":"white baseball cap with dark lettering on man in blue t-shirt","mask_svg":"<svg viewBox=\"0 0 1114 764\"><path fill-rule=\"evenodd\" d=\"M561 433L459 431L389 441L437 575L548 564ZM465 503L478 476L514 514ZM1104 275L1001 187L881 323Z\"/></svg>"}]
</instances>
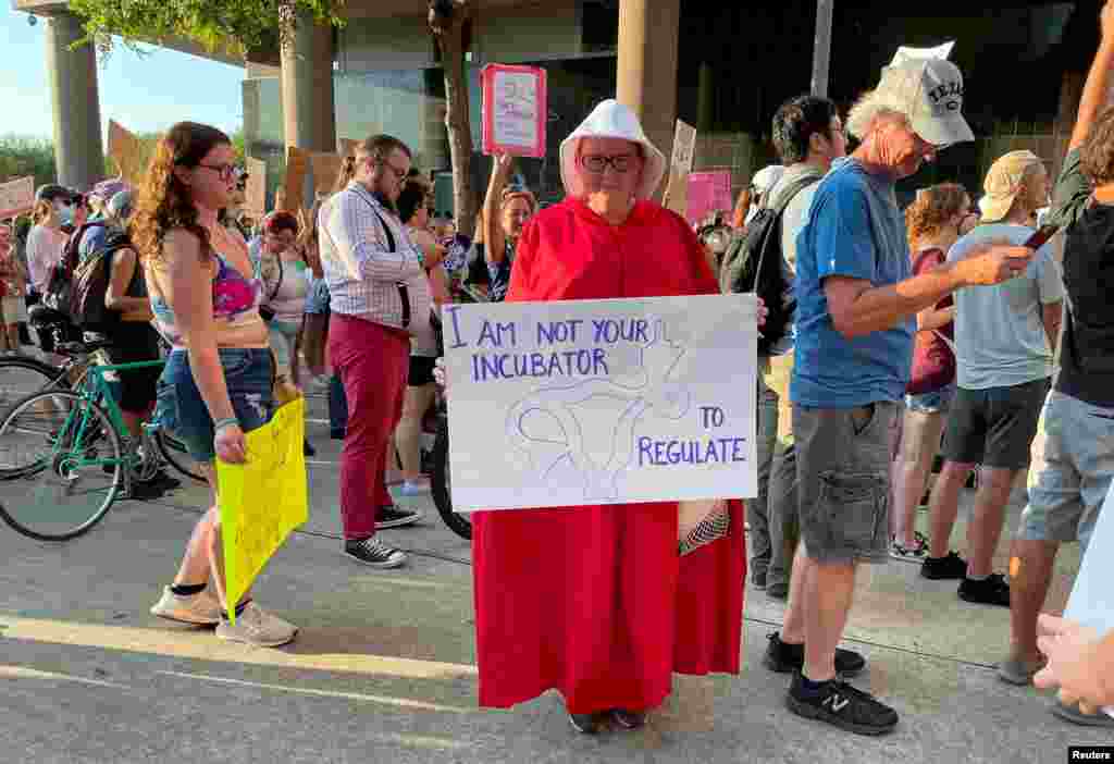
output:
<instances>
[{"instance_id":1,"label":"white baseball cap with dark lettering on man in blue t-shirt","mask_svg":"<svg viewBox=\"0 0 1114 764\"><path fill-rule=\"evenodd\" d=\"M882 69L878 90L900 105L913 131L936 147L975 140L964 119L964 76L942 58L906 60Z\"/></svg>"}]
</instances>

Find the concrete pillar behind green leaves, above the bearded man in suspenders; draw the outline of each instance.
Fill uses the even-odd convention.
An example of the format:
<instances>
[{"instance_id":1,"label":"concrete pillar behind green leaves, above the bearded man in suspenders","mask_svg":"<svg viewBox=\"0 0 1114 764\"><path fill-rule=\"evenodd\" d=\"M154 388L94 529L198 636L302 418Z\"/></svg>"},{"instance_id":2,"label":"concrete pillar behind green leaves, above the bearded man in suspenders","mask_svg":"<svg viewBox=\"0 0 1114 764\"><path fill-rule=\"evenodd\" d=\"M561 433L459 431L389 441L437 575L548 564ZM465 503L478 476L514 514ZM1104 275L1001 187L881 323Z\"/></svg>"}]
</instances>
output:
<instances>
[{"instance_id":1,"label":"concrete pillar behind green leaves, above the bearded man in suspenders","mask_svg":"<svg viewBox=\"0 0 1114 764\"><path fill-rule=\"evenodd\" d=\"M282 106L286 146L336 150L333 29L301 16L293 45L282 50Z\"/></svg>"}]
</instances>

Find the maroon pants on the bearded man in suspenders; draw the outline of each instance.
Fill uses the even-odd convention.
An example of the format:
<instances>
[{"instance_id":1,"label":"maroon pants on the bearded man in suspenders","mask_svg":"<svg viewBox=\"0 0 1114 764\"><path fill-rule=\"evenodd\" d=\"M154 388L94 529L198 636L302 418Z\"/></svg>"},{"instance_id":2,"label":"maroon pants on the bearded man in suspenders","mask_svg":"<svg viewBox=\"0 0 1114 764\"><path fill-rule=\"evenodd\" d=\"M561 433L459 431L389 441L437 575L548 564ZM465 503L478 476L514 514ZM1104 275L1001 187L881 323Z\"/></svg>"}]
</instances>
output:
<instances>
[{"instance_id":1,"label":"maroon pants on the bearded man in suspenders","mask_svg":"<svg viewBox=\"0 0 1114 764\"><path fill-rule=\"evenodd\" d=\"M410 369L410 336L334 313L329 354L344 384L349 421L341 451L341 521L345 539L375 535L375 513L391 503L383 482Z\"/></svg>"}]
</instances>

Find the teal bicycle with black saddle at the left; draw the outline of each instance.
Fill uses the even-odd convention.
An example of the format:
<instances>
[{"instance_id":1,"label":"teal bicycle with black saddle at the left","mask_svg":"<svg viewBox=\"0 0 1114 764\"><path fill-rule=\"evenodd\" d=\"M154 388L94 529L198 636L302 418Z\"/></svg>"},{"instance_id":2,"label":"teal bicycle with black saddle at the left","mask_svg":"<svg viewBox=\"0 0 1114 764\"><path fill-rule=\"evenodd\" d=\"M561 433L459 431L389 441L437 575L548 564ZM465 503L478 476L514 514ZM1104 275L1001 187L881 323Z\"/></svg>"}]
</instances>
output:
<instances>
[{"instance_id":1,"label":"teal bicycle with black saddle at the left","mask_svg":"<svg viewBox=\"0 0 1114 764\"><path fill-rule=\"evenodd\" d=\"M40 541L66 541L88 532L120 492L155 477L170 452L157 423L128 434L106 375L162 365L164 361L111 364L99 356L107 342L69 342L58 352L84 362L74 390L56 388L17 402L0 422L0 518ZM68 365L68 364L67 364ZM26 461L23 457L28 457ZM172 464L202 476L196 464ZM203 477L203 476L202 476Z\"/></svg>"}]
</instances>

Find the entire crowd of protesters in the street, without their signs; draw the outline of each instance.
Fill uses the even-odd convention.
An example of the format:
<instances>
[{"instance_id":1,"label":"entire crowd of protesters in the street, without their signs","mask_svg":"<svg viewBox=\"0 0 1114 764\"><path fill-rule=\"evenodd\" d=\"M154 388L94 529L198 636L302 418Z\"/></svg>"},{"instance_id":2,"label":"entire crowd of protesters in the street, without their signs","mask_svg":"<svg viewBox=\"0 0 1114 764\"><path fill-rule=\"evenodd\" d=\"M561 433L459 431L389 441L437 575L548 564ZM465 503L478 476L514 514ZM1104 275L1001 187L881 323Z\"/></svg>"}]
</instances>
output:
<instances>
[{"instance_id":1,"label":"entire crowd of protesters in the street, without their signs","mask_svg":"<svg viewBox=\"0 0 1114 764\"><path fill-rule=\"evenodd\" d=\"M579 732L642 726L673 673L740 670L749 568L755 589L788 600L763 664L792 675L789 709L889 732L897 712L850 683L867 662L839 644L858 567L900 560L927 580L958 580L965 601L1010 608L999 676L1062 685L1057 715L1106 723L1094 712L1114 699L1110 639L1038 621L1058 546L1086 547L1114 478L1114 6L1101 27L1055 183L1052 157L1010 151L980 193L946 183L898 206L898 180L974 140L961 74L942 59L886 68L846 115L814 96L778 110L780 164L754 174L731 219L742 237L761 210L778 210L786 288L764 296L790 316L758 359L758 497L745 509L726 498L704 507L697 522L716 531L681 539L680 554L680 518L694 511L683 502L478 513L481 705L557 689ZM309 379L326 380L331 435L343 440L341 552L394 568L407 555L378 531L420 512L395 505L387 477L400 468L398 498L429 491L420 441L443 305L697 295L732 283L710 267L722 252L710 257L684 218L652 200L665 157L617 101L561 144L559 204L539 209L510 185L514 159L496 157L471 237L431 218L413 159L403 140L372 136L309 214L280 205L251 222L235 213L243 177L231 139L180 123L141 187L47 185L29 227L0 226L0 351L20 347L29 306L77 244L81 257L113 255L109 357L166 357L162 372L121 374L125 423L138 435L157 417L206 467L212 496L155 615L257 646L295 638L296 626L250 594L225 595L212 464L244 461L245 433ZM1034 244L1043 213L1058 232ZM47 334L39 345L56 350ZM964 558L950 535L976 470ZM995 572L1023 474L1010 569ZM159 474L134 498L176 484Z\"/></svg>"}]
</instances>

